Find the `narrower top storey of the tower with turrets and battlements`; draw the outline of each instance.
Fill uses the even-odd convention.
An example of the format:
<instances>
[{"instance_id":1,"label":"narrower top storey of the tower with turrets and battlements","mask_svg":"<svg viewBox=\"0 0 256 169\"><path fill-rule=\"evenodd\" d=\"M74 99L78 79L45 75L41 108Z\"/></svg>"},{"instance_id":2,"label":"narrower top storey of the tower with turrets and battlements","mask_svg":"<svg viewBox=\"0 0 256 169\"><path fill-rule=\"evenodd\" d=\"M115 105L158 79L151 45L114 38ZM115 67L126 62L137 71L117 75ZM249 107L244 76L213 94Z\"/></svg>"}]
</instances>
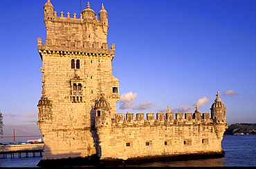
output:
<instances>
[{"instance_id":1,"label":"narrower top storey of the tower with turrets and battlements","mask_svg":"<svg viewBox=\"0 0 256 169\"><path fill-rule=\"evenodd\" d=\"M38 50L115 54L115 44L111 43L109 48L107 43L107 16L103 4L99 19L89 3L78 18L76 13L57 14L53 4L47 1L44 5L46 43L38 39Z\"/></svg>"}]
</instances>

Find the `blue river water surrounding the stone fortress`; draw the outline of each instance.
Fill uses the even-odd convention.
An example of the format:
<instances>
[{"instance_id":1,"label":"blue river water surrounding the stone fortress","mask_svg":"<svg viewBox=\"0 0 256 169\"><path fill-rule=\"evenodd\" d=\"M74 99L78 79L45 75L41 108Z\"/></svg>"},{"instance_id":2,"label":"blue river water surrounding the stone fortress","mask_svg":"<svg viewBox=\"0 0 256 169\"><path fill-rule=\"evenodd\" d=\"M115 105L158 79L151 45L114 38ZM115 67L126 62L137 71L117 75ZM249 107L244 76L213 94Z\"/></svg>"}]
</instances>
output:
<instances>
[{"instance_id":1,"label":"blue river water surrounding the stone fortress","mask_svg":"<svg viewBox=\"0 0 256 169\"><path fill-rule=\"evenodd\" d=\"M225 151L225 157L219 159L164 161L119 167L252 167L256 166L255 143L256 135L225 135L222 141L222 148ZM42 157L22 157L14 159L0 159L0 168L37 167L37 163L41 158Z\"/></svg>"}]
</instances>

